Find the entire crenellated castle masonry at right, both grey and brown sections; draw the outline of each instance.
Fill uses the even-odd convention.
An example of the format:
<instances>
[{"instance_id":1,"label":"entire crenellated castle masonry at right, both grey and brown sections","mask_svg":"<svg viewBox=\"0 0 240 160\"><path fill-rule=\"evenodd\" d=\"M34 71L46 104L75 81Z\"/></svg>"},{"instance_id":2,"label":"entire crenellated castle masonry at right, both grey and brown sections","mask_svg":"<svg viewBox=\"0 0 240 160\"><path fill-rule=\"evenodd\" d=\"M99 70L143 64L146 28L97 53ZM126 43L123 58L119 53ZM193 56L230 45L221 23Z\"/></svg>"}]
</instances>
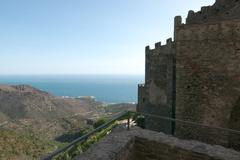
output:
<instances>
[{"instance_id":1,"label":"entire crenellated castle masonry at right, both grey and brown sections","mask_svg":"<svg viewBox=\"0 0 240 160\"><path fill-rule=\"evenodd\" d=\"M146 48L144 91L142 113L240 130L240 0L189 11L186 24L177 16L174 41ZM151 117L146 128L240 149L226 131Z\"/></svg>"}]
</instances>

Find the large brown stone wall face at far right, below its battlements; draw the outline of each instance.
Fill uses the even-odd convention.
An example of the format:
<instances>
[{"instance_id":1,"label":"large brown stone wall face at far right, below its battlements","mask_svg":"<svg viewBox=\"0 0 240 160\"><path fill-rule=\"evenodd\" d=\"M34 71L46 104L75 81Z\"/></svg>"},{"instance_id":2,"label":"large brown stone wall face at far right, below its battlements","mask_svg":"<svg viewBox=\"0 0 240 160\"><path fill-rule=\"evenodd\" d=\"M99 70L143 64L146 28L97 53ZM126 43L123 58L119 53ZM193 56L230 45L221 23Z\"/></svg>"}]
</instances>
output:
<instances>
[{"instance_id":1,"label":"large brown stone wall face at far right, below its battlements","mask_svg":"<svg viewBox=\"0 0 240 160\"><path fill-rule=\"evenodd\" d=\"M176 117L239 130L234 107L240 107L240 20L179 25L176 52ZM176 135L226 146L232 137L181 124ZM240 140L230 143L238 146Z\"/></svg>"}]
</instances>

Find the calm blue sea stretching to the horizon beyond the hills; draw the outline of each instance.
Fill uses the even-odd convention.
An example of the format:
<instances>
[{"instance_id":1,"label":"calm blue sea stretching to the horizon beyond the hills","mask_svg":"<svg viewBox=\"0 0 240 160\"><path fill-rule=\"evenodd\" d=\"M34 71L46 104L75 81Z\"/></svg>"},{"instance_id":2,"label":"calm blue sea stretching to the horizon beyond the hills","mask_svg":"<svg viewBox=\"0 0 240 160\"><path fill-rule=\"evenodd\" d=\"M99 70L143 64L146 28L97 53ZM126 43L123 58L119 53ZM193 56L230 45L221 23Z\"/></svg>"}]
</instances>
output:
<instances>
[{"instance_id":1,"label":"calm blue sea stretching to the horizon beyond the hills","mask_svg":"<svg viewBox=\"0 0 240 160\"><path fill-rule=\"evenodd\" d=\"M136 102L144 76L0 76L2 84L28 84L55 96L94 96L107 103Z\"/></svg>"}]
</instances>

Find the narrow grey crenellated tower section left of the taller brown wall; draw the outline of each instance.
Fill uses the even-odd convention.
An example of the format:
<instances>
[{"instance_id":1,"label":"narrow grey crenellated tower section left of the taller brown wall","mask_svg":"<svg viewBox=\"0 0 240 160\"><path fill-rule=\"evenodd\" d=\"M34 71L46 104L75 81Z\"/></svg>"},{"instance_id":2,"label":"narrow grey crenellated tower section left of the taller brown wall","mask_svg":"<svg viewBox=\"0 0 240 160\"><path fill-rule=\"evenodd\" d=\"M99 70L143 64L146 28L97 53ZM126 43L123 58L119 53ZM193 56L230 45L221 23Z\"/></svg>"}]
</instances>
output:
<instances>
[{"instance_id":1,"label":"narrow grey crenellated tower section left of the taller brown wall","mask_svg":"<svg viewBox=\"0 0 240 160\"><path fill-rule=\"evenodd\" d=\"M173 79L175 75L175 43L167 40L166 45L155 44L155 49L146 47L145 102L143 113L172 117ZM170 121L146 117L147 129L172 133Z\"/></svg>"}]
</instances>

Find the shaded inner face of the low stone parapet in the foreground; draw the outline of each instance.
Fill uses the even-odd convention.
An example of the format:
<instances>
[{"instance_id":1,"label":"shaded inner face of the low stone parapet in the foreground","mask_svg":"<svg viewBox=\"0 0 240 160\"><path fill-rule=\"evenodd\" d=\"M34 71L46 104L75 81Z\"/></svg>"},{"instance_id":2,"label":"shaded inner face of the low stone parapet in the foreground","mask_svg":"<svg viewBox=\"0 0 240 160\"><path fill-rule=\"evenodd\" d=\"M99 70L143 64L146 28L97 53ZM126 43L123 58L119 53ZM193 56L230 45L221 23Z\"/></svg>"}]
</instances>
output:
<instances>
[{"instance_id":1,"label":"shaded inner face of the low stone parapet in the foreground","mask_svg":"<svg viewBox=\"0 0 240 160\"><path fill-rule=\"evenodd\" d=\"M134 151L130 158L122 160L219 160L219 157L212 157L208 154L194 152L187 148L180 148L175 145L159 143L158 141L136 137L134 142ZM202 145L201 149L205 150ZM133 155L132 155L133 154Z\"/></svg>"}]
</instances>

